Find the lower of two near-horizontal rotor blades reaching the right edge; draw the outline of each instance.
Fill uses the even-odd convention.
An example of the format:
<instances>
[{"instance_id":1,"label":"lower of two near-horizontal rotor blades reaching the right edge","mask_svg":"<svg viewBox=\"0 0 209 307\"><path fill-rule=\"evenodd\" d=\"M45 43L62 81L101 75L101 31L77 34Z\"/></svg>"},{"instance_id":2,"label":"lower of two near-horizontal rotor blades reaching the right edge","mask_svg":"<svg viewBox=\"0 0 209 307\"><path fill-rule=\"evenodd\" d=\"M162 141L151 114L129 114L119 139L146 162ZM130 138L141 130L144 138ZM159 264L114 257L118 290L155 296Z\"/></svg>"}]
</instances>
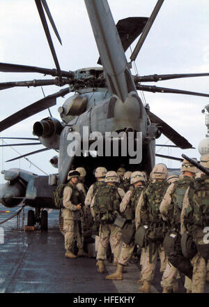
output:
<instances>
[{"instance_id":1,"label":"lower of two near-horizontal rotor blades reaching the right edge","mask_svg":"<svg viewBox=\"0 0 209 307\"><path fill-rule=\"evenodd\" d=\"M166 87L155 87L155 85L136 85L139 91L151 91L152 93L182 93L184 95L209 97L208 93L197 93L196 91L183 91L182 89L168 89Z\"/></svg>"}]
</instances>

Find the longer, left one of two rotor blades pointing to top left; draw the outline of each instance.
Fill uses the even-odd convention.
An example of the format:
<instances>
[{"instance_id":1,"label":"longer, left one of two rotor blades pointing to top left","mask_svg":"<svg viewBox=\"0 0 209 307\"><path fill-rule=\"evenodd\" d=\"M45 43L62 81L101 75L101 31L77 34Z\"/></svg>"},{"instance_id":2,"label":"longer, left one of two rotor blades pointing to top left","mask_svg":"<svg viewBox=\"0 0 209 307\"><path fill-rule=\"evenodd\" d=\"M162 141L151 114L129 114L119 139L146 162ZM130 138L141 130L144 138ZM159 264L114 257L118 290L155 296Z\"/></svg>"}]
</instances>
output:
<instances>
[{"instance_id":1,"label":"longer, left one of two rotor blades pointing to top left","mask_svg":"<svg viewBox=\"0 0 209 307\"><path fill-rule=\"evenodd\" d=\"M45 35L47 37L47 40L48 40L48 43L49 43L49 48L50 48L50 50L52 52L52 57L54 59L56 70L57 70L57 73L59 75L59 79L60 79L60 82L61 82L61 79L62 79L61 69L60 69L60 66L59 66L59 61L58 61L58 59L56 57L56 52L55 52L55 49L54 49L54 45L52 43L52 38L51 38L51 35L50 35L50 32L49 32L49 28L48 28L48 25L47 25L47 20L46 20L46 17L45 17L45 13L44 13L44 10L42 8L42 2L41 2L41 0L35 0L35 2L36 2L37 9L38 9L38 13L40 15L40 20L42 22L42 27L45 30Z\"/></svg>"}]
</instances>

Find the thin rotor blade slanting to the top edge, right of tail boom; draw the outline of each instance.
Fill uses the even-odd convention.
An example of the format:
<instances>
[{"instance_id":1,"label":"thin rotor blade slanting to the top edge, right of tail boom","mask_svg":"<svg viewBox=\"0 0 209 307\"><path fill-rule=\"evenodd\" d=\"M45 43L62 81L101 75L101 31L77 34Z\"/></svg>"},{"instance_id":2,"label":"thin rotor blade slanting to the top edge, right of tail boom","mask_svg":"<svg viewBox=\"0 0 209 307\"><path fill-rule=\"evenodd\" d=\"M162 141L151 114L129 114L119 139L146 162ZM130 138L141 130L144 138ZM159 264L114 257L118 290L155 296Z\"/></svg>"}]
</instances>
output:
<instances>
[{"instance_id":1,"label":"thin rotor blade slanting to the top edge, right of tail boom","mask_svg":"<svg viewBox=\"0 0 209 307\"><path fill-rule=\"evenodd\" d=\"M132 54L130 56L131 62L135 61L135 59L137 59L137 55L139 54L139 51L141 50L141 47L144 44L144 40L146 39L146 36L148 35L148 33L149 33L149 31L150 31L150 29L153 25L153 22L155 21L157 13L159 12L163 2L164 2L164 0L158 0L157 1L157 4L156 4L156 6L153 10L153 13L150 15L148 22L146 23L146 26L145 26L143 32L141 33L139 41L138 41L136 47L134 48L134 51L132 52Z\"/></svg>"}]
</instances>

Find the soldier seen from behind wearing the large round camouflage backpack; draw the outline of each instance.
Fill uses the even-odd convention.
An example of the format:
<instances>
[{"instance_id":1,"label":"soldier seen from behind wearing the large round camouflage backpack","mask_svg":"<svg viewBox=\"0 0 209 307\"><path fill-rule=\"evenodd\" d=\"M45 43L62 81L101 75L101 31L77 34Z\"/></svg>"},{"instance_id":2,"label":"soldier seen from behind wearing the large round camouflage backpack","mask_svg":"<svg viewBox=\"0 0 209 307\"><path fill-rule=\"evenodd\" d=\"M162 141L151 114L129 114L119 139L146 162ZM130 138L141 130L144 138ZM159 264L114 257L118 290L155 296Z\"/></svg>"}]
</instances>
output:
<instances>
[{"instance_id":1,"label":"soldier seen from behind wearing the large round camouflage backpack","mask_svg":"<svg viewBox=\"0 0 209 307\"><path fill-rule=\"evenodd\" d=\"M118 175L116 172L107 172L105 177L105 182L116 183L118 182ZM107 204L111 207L111 211L106 207L106 204L101 204L100 195L102 190L109 190L109 197L111 197L111 203ZM104 260L107 259L107 246L109 241L111 241L111 249L114 254L114 260L118 261L118 255L121 245L121 228L114 225L114 218L116 217L116 213L119 212L119 205L123 196L125 195L124 191L121 188L116 188L114 186L104 186L104 188L100 190L100 192L96 193L95 201L94 201L94 211L95 211L95 219L100 220L100 245L97 254L98 260L98 273L104 273ZM102 213L100 209L100 205L104 206L104 211L106 213Z\"/></svg>"}]
</instances>

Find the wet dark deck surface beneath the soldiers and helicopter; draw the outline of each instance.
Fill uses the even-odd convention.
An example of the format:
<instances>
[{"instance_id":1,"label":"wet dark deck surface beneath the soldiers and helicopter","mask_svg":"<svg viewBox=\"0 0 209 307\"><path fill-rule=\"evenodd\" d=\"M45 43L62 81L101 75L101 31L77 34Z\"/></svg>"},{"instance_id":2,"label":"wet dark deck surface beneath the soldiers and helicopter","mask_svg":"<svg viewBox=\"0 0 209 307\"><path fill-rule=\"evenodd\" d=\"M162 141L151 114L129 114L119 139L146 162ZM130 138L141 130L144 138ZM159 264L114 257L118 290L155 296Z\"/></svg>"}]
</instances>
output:
<instances>
[{"instance_id":1,"label":"wet dark deck surface beneath the soldiers and helicopter","mask_svg":"<svg viewBox=\"0 0 209 307\"><path fill-rule=\"evenodd\" d=\"M0 211L10 210L10 213L0 213L0 222L19 209L6 209L0 205ZM29 209L24 209L25 218ZM106 280L106 274L96 272L95 258L66 259L58 216L56 210L48 214L47 232L17 230L16 217L0 225L3 232L3 236L0 234L1 293L139 293L139 285L136 283L140 274L138 264L129 264L125 268L124 279L116 281ZM111 274L116 268L106 262L106 269L107 274ZM161 277L157 262L152 293L162 292ZM181 280L179 292L185 292ZM206 292L209 293L209 284L206 285Z\"/></svg>"}]
</instances>

